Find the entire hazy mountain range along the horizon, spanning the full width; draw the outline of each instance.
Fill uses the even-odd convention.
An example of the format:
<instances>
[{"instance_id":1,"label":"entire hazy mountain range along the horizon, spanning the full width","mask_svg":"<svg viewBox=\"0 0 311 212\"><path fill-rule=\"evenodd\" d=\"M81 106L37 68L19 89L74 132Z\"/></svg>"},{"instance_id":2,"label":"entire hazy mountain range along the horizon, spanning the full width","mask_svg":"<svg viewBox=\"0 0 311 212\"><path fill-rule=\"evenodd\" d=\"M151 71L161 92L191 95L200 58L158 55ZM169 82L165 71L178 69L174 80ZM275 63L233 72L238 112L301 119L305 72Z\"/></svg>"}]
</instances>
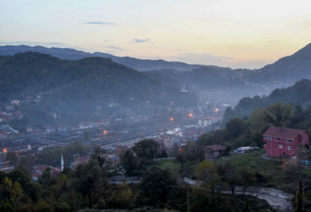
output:
<instances>
[{"instance_id":1,"label":"entire hazy mountain range along the horizon, spanning the full width","mask_svg":"<svg viewBox=\"0 0 311 212\"><path fill-rule=\"evenodd\" d=\"M63 59L81 59L100 56L140 71L151 71L185 83L189 88L203 92L225 93L229 104L237 104L245 96L268 95L271 91L288 87L301 79L311 79L311 43L260 69L231 69L211 65L190 65L165 60L140 60L131 57L94 52L93 54L74 49L46 48L43 46L0 46L0 55L17 52L37 51ZM159 77L161 78L161 77Z\"/></svg>"}]
</instances>

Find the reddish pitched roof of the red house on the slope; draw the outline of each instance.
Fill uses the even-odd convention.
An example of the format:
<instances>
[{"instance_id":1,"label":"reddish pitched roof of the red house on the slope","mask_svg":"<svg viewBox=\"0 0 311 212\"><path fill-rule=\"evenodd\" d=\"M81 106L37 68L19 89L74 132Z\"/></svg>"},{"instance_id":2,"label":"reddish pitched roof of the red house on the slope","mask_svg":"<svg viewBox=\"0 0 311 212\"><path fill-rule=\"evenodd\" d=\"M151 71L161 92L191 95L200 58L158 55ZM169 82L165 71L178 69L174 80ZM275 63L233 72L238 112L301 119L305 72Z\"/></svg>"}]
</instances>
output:
<instances>
[{"instance_id":1,"label":"reddish pitched roof of the red house on the slope","mask_svg":"<svg viewBox=\"0 0 311 212\"><path fill-rule=\"evenodd\" d=\"M271 126L263 136L272 136L277 138L285 138L285 139L292 139L295 140L298 135L303 135L306 131L305 130L295 130L290 128L282 128L282 127L275 127Z\"/></svg>"}]
</instances>

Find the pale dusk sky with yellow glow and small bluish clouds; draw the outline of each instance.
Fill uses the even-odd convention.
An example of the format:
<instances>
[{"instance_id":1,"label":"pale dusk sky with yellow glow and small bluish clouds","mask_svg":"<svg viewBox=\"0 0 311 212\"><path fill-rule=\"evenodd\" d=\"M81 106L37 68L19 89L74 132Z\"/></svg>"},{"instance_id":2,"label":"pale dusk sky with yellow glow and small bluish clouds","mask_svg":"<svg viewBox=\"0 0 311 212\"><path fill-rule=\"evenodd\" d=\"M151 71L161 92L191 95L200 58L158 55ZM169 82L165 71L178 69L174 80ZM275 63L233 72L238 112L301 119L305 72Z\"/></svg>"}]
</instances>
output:
<instances>
[{"instance_id":1,"label":"pale dusk sky with yellow glow and small bluish clouds","mask_svg":"<svg viewBox=\"0 0 311 212\"><path fill-rule=\"evenodd\" d=\"M261 68L311 42L310 0L0 0L0 45Z\"/></svg>"}]
</instances>

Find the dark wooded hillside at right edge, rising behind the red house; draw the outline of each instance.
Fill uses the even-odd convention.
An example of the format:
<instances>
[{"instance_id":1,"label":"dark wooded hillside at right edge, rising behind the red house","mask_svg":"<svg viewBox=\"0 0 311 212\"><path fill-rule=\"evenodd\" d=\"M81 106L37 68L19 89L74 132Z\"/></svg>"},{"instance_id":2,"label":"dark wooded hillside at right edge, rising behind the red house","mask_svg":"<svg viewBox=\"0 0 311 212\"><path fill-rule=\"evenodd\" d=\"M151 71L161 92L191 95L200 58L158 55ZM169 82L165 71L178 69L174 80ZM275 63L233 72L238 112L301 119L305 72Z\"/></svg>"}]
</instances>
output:
<instances>
[{"instance_id":1,"label":"dark wooded hillside at right edge, rising behind the red house","mask_svg":"<svg viewBox=\"0 0 311 212\"><path fill-rule=\"evenodd\" d=\"M255 108L266 108L275 102L290 103L293 106L300 104L302 107L311 105L311 81L302 79L295 85L276 89L268 96L244 97L234 107L234 110L227 109L227 117L251 116Z\"/></svg>"}]
</instances>

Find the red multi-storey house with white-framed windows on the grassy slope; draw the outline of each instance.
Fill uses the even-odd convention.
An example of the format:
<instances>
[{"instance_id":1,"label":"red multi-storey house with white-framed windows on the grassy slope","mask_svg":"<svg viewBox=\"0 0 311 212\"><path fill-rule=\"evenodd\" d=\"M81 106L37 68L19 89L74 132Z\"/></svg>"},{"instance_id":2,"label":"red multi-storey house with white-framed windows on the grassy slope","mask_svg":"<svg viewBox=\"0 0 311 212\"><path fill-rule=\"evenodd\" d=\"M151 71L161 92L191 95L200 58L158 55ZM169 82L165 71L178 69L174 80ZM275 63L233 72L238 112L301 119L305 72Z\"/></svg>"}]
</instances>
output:
<instances>
[{"instance_id":1,"label":"red multi-storey house with white-framed windows on the grassy slope","mask_svg":"<svg viewBox=\"0 0 311 212\"><path fill-rule=\"evenodd\" d=\"M263 141L266 144L267 156L295 156L297 154L298 145L308 144L309 136L305 130L295 130L283 127L271 126L264 134Z\"/></svg>"}]
</instances>

